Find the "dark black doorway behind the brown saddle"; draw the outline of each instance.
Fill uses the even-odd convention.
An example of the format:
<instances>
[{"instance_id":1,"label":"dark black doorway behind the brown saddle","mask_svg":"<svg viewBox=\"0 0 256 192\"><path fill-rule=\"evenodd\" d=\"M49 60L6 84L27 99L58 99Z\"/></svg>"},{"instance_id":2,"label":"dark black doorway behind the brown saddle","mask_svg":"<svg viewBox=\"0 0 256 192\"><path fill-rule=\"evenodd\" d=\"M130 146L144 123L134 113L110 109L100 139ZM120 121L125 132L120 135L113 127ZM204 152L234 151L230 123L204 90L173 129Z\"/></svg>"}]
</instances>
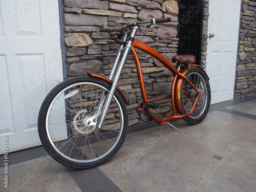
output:
<instances>
[{"instance_id":1,"label":"dark black doorway behind the brown saddle","mask_svg":"<svg viewBox=\"0 0 256 192\"><path fill-rule=\"evenodd\" d=\"M201 64L203 0L179 1L178 54L191 54Z\"/></svg>"}]
</instances>

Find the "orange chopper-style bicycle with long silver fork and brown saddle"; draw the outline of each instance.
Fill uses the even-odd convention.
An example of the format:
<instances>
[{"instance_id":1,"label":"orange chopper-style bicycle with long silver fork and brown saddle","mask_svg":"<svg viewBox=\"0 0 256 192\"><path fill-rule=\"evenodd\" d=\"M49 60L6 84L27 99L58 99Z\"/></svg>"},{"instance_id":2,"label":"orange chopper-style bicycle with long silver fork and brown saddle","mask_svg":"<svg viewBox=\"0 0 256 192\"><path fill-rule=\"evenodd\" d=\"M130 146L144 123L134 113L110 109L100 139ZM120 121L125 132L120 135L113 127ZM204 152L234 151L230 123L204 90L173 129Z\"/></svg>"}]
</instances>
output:
<instances>
[{"instance_id":1,"label":"orange chopper-style bicycle with long silver fork and brown saddle","mask_svg":"<svg viewBox=\"0 0 256 192\"><path fill-rule=\"evenodd\" d=\"M69 167L91 168L107 162L119 151L128 130L126 104L129 103L117 83L130 52L135 60L143 99L137 113L143 121L154 120L163 125L177 118L183 118L189 124L204 120L210 105L210 85L205 71L193 64L195 57L174 56L175 69L160 53L134 38L139 26L156 27L156 24L166 22L170 22L170 18L127 24L119 31L122 42L109 78L88 73L88 76L61 82L47 95L38 115L38 133L53 159ZM170 95L147 98L135 48L155 57L173 73ZM173 114L159 118L154 111L156 101L165 99L171 99Z\"/></svg>"}]
</instances>

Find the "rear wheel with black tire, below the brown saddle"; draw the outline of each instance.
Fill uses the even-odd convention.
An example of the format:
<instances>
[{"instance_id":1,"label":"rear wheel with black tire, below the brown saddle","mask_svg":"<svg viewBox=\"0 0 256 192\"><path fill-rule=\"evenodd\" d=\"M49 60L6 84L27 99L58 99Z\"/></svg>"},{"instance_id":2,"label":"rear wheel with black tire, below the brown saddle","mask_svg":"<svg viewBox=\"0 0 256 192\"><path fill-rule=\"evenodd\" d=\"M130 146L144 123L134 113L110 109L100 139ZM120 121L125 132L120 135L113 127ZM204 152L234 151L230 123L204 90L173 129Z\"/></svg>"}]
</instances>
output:
<instances>
[{"instance_id":1,"label":"rear wheel with black tire, below the brown saddle","mask_svg":"<svg viewBox=\"0 0 256 192\"><path fill-rule=\"evenodd\" d=\"M205 72L198 67L190 68L186 72L185 77L187 77L188 80L191 81L191 83L193 83L193 85L201 93L201 96L195 106L194 111L189 116L184 117L183 120L189 124L198 124L205 119L209 111L211 98L210 84ZM181 114L184 115L190 112L196 100L197 93L189 85L189 83L185 79L183 79L181 83L180 95L180 102L182 108Z\"/></svg>"}]
</instances>

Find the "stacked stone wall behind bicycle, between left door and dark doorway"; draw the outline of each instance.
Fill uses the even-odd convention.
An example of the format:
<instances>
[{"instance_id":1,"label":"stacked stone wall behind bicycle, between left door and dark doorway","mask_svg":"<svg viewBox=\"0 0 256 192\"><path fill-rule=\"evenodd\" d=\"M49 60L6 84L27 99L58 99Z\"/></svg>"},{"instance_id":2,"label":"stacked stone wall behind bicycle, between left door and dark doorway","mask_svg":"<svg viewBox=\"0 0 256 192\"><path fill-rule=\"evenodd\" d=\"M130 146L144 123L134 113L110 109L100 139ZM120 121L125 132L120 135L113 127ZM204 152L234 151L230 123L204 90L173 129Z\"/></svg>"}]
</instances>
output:
<instances>
[{"instance_id":1,"label":"stacked stone wall behind bicycle, between left door and dark doorway","mask_svg":"<svg viewBox=\"0 0 256 192\"><path fill-rule=\"evenodd\" d=\"M153 17L171 17L172 22L164 24L164 28L140 27L136 38L171 61L178 47L178 10L174 0L63 0L68 76L87 75L87 72L108 76L120 47L116 32L127 23ZM170 93L172 73L150 55L139 50L137 53L148 98ZM118 85L129 100L129 124L138 123L136 109L142 98L132 55L128 56ZM166 115L171 109L170 102L161 101L156 112Z\"/></svg>"}]
</instances>

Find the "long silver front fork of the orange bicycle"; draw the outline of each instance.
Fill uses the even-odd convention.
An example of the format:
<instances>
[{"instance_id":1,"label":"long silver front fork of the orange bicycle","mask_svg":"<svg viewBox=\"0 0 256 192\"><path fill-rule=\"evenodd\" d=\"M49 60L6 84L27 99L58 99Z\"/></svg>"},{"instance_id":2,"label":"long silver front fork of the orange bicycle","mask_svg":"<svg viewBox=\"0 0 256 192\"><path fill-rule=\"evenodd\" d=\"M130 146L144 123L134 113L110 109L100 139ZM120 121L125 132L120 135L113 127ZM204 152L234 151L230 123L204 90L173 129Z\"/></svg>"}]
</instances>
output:
<instances>
[{"instance_id":1,"label":"long silver front fork of the orange bicycle","mask_svg":"<svg viewBox=\"0 0 256 192\"><path fill-rule=\"evenodd\" d=\"M137 27L137 26L136 26L136 27L133 27L133 30L132 30L132 32L131 32L131 35L130 35L130 37L129 37L128 40L127 40L126 46L124 47L123 45L121 45L120 49L118 50L118 54L117 54L117 57L116 57L114 66L113 66L113 69L112 69L111 74L110 74L110 80L113 80L113 79L114 79L114 80L113 80L111 89L110 89L110 91L109 91L109 94L103 93L103 96L101 97L101 100L100 100L99 107L98 107L98 109L97 109L97 112L96 112L96 114L95 114L94 116L91 117L91 118L94 118L94 119L95 119L95 118L97 118L97 117L100 115L100 117L99 117L99 119L98 119L98 121L97 121L97 123L96 123L96 124L97 124L96 127L97 127L98 129L101 129L101 128L102 128L103 121L104 121L104 119L105 119L105 117L106 117L106 114L108 113L109 105L110 105L110 103L111 103L111 100L112 100L112 98L113 98L114 92L115 92L116 87L117 87L117 82L118 82L118 80L119 80L119 78L120 78L120 75L121 75L121 72L122 72L124 63L125 63L125 61L126 61L126 58L127 58L127 56L129 55L129 52L130 52L131 49L132 49L133 40L134 40L134 37L135 37L135 34L136 34L137 30L138 30L138 27ZM123 41L125 42L126 39L127 39L127 34L125 34ZM123 47L124 47L124 48L123 48ZM122 53L123 50L124 50L124 53L123 53L123 56L122 56L120 65L119 65L119 67L118 67L118 69L117 69L119 60L120 60L120 58L121 58L121 53ZM116 72L116 75L114 75L116 69L117 69L117 72ZM105 101L105 104L103 105L104 101ZM102 109L102 108L103 108L103 109ZM101 111L101 109L102 109L102 111ZM91 118L89 118L89 119L91 119ZM89 125L94 125L94 123L93 123L92 121L89 122L89 121L87 120L86 123L89 124ZM92 123L92 124L91 124L91 123Z\"/></svg>"}]
</instances>

